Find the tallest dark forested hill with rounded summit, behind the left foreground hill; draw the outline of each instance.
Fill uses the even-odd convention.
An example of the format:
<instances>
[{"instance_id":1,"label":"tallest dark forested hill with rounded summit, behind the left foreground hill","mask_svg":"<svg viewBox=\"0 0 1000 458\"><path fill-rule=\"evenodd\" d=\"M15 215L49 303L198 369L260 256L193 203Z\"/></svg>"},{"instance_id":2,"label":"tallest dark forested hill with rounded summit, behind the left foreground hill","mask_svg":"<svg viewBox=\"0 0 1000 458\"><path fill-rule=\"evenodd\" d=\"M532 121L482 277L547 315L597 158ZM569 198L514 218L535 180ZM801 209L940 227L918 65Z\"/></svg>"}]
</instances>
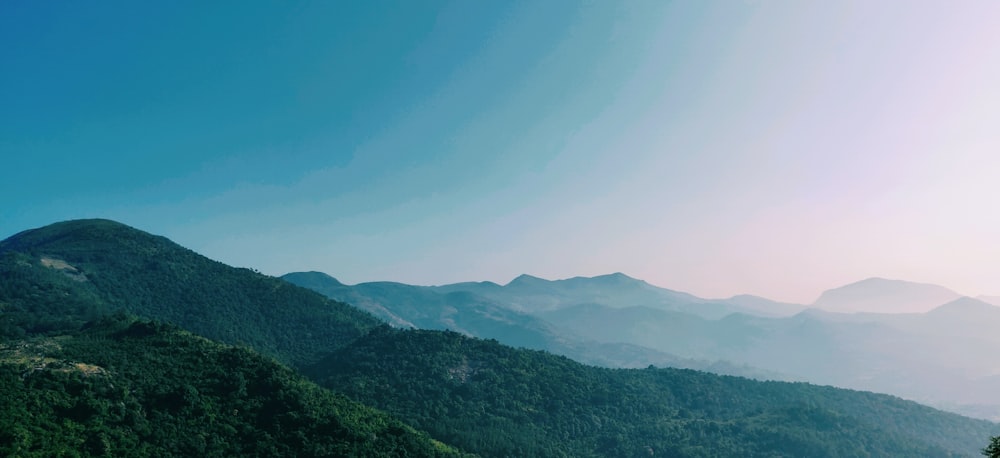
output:
<instances>
[{"instance_id":1,"label":"tallest dark forested hill with rounded summit, behind the left foreground hill","mask_svg":"<svg viewBox=\"0 0 1000 458\"><path fill-rule=\"evenodd\" d=\"M0 242L0 275L0 337L59 332L125 310L298 367L379 323L355 307L108 220L56 223ZM59 296L42 290L59 290L76 304L73 314L61 299L46 303Z\"/></svg>"}]
</instances>

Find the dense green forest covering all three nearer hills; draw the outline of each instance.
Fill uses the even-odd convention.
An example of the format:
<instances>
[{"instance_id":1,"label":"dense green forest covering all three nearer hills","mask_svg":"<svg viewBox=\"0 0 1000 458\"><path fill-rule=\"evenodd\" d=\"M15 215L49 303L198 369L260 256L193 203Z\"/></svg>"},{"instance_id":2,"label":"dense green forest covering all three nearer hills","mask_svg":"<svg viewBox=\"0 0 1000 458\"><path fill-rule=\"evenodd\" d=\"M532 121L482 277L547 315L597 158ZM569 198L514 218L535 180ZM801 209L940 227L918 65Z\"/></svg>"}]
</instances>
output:
<instances>
[{"instance_id":1,"label":"dense green forest covering all three nearer hills","mask_svg":"<svg viewBox=\"0 0 1000 458\"><path fill-rule=\"evenodd\" d=\"M111 221L0 242L0 279L14 456L972 456L1000 430L885 395L397 330Z\"/></svg>"}]
</instances>

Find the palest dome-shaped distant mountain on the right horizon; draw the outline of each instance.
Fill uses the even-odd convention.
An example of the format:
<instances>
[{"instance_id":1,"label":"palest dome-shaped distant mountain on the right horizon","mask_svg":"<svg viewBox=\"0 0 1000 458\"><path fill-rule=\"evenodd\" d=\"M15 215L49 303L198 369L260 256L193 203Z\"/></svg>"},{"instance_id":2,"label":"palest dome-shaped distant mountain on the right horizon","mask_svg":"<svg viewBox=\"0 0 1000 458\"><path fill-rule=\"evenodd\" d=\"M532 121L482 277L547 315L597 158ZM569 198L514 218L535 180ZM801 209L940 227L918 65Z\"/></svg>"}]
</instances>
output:
<instances>
[{"instance_id":1,"label":"palest dome-shaped distant mountain on the right horizon","mask_svg":"<svg viewBox=\"0 0 1000 458\"><path fill-rule=\"evenodd\" d=\"M943 286L869 278L824 291L813 307L832 312L927 312L961 297Z\"/></svg>"}]
</instances>

